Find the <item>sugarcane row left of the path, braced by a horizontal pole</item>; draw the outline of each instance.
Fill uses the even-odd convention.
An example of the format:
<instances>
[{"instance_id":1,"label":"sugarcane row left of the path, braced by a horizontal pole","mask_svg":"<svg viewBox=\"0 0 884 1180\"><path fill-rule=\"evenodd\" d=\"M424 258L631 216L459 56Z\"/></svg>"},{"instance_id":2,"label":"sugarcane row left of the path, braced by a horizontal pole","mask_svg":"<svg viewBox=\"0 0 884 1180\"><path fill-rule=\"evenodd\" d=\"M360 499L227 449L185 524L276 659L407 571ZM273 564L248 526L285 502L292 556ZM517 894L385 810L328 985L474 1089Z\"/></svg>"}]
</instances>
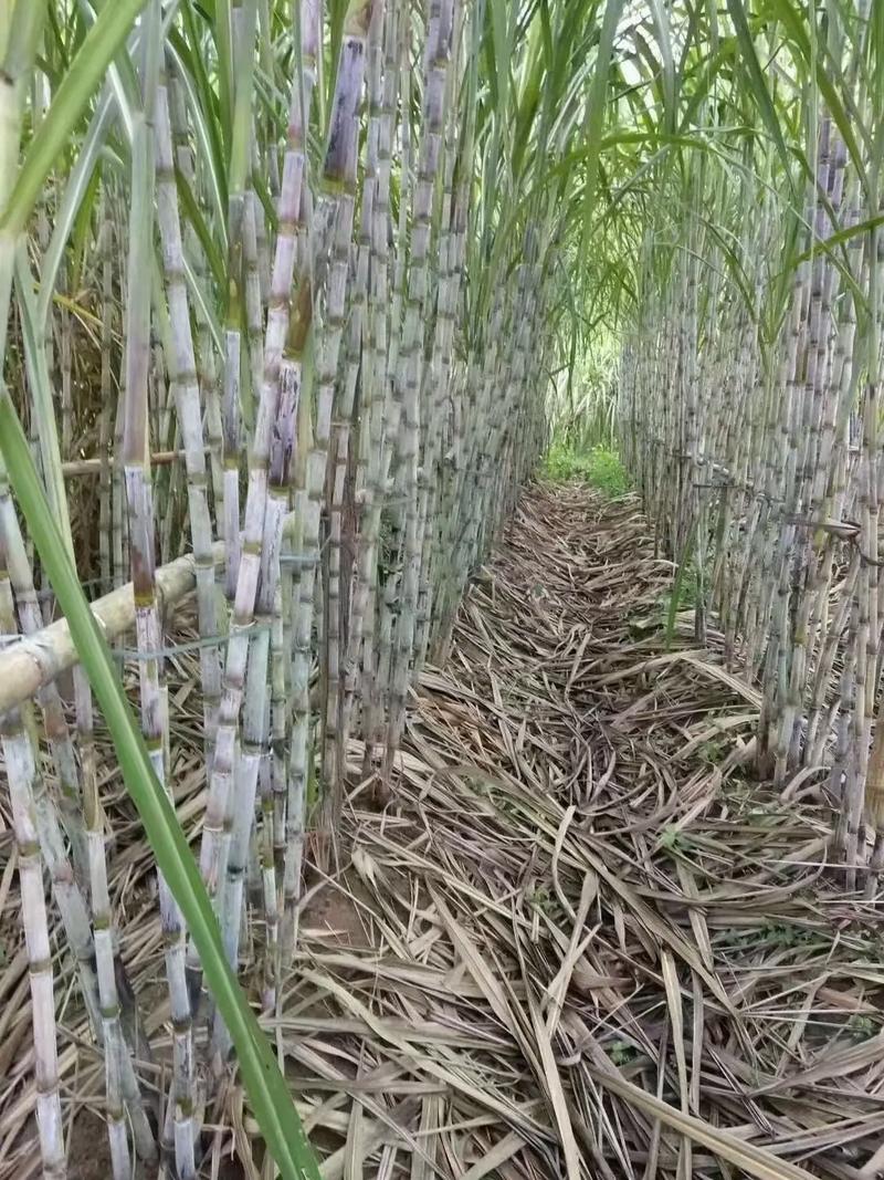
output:
<instances>
[{"instance_id":1,"label":"sugarcane row left of the path, braced by a horizontal pole","mask_svg":"<svg viewBox=\"0 0 884 1180\"><path fill-rule=\"evenodd\" d=\"M47 1175L65 1143L44 867L104 1045L114 1176L158 1149L196 1174L231 1042L281 1169L315 1174L235 974L273 1010L309 809L328 863L348 773L389 779L410 686L543 448L574 308L562 225L594 185L619 7L4 7L0 627L20 638L0 658L25 688L2 749ZM160 594L192 584L198 868L171 806ZM138 721L81 585L113 634L134 624ZM44 631L57 608L70 630ZM120 1016L95 706L159 870L158 1141Z\"/></svg>"}]
</instances>

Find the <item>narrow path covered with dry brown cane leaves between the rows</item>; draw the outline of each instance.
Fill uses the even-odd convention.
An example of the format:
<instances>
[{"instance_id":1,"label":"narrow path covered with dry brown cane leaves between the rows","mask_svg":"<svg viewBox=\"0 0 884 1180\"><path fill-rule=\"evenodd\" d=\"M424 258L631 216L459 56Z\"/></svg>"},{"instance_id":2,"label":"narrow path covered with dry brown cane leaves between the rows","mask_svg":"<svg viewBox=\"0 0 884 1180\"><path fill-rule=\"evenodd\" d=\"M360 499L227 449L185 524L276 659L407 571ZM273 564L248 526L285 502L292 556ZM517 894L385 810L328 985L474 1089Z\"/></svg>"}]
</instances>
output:
<instances>
[{"instance_id":1,"label":"narrow path covered with dry brown cane leaves between the rows","mask_svg":"<svg viewBox=\"0 0 884 1180\"><path fill-rule=\"evenodd\" d=\"M666 585L634 503L566 487L471 586L394 801L356 793L306 903L278 1031L328 1178L858 1176L878 1147L872 911L817 897L822 807L746 781L756 695L714 631L667 647Z\"/></svg>"}]
</instances>

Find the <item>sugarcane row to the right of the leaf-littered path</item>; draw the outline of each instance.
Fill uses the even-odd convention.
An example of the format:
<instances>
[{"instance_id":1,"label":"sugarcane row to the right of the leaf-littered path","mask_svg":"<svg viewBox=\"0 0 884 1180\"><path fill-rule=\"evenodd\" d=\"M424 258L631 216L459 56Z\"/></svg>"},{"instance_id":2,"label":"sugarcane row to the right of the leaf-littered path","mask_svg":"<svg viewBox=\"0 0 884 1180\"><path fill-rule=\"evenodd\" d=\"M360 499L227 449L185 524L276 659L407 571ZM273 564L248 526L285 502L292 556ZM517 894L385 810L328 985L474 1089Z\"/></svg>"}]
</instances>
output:
<instances>
[{"instance_id":1,"label":"sugarcane row to the right of the leaf-littered path","mask_svg":"<svg viewBox=\"0 0 884 1180\"><path fill-rule=\"evenodd\" d=\"M660 537L702 578L699 635L711 605L727 653L761 680L760 772L784 788L825 772L852 886L864 802L866 822L884 820L884 747L870 776L880 15L863 4L728 8L727 26L705 32L721 50L723 38L739 45L740 64L714 86L700 68L704 143L678 166L654 164L667 199L648 210L639 249L620 432ZM869 889L883 856L878 835Z\"/></svg>"}]
</instances>

